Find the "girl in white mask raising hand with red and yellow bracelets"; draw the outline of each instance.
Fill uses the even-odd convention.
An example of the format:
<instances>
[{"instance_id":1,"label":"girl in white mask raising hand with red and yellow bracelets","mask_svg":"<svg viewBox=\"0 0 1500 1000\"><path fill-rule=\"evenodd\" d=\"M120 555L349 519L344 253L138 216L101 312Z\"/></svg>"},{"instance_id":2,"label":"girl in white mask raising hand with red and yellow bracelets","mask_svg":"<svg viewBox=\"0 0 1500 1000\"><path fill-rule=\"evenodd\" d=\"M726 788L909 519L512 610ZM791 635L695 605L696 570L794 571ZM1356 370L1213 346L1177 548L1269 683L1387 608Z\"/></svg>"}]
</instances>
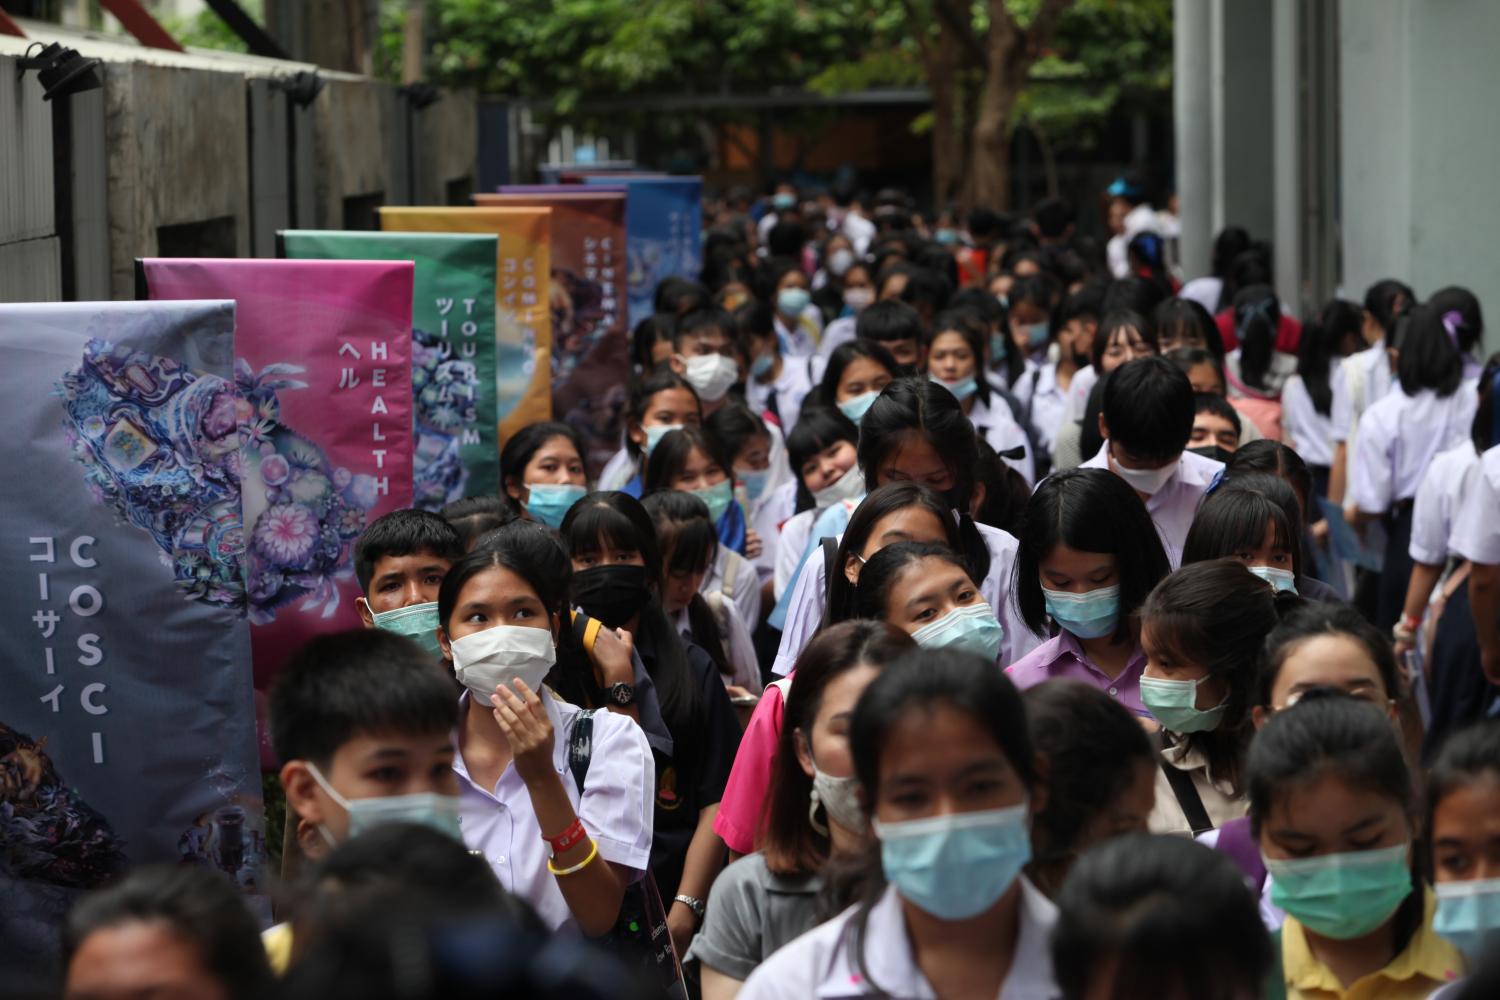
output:
<instances>
[{"instance_id":1,"label":"girl in white mask raising hand with red and yellow bracelets","mask_svg":"<svg viewBox=\"0 0 1500 1000\"><path fill-rule=\"evenodd\" d=\"M542 687L560 649L591 672L566 625L567 592L556 540L516 523L448 571L440 642L466 688L453 760L464 843L548 927L598 937L650 862L654 768L640 727L598 712L586 789L573 778L580 709Z\"/></svg>"}]
</instances>

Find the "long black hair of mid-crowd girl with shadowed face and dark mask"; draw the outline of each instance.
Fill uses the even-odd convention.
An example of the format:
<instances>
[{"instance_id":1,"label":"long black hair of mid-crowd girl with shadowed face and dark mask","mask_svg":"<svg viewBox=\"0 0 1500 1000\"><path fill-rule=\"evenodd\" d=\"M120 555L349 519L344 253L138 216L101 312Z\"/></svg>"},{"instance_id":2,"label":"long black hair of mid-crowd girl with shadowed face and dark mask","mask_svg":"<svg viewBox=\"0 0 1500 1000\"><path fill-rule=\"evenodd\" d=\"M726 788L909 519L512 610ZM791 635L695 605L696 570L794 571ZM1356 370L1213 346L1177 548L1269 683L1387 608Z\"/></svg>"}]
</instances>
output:
<instances>
[{"instance_id":1,"label":"long black hair of mid-crowd girl with shadowed face and dark mask","mask_svg":"<svg viewBox=\"0 0 1500 1000\"><path fill-rule=\"evenodd\" d=\"M990 549L969 517L974 474L980 465L980 439L952 393L926 378L898 378L885 387L860 421L860 471L867 489L880 486L880 463L916 435L944 457L954 486L945 490L958 516L958 552L969 564L975 583L990 573Z\"/></svg>"}]
</instances>

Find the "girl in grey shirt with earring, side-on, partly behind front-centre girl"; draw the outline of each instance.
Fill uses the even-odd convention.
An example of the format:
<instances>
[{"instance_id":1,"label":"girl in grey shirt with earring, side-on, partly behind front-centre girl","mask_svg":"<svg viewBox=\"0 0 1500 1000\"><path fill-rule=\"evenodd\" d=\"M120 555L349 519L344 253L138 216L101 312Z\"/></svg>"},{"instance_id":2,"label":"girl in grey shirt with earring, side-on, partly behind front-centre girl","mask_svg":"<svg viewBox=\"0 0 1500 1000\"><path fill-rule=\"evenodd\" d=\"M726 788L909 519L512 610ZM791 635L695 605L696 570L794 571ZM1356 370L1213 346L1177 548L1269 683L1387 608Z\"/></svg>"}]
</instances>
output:
<instances>
[{"instance_id":1,"label":"girl in grey shirt with earring, side-on, partly behind front-centre girl","mask_svg":"<svg viewBox=\"0 0 1500 1000\"><path fill-rule=\"evenodd\" d=\"M822 868L864 847L868 822L849 757L849 717L885 664L912 649L902 631L879 622L846 622L807 648L789 688L780 729L765 745L774 774L758 853L729 865L714 883L704 930L690 960L702 967L704 1000L729 1000L782 945L812 930L842 901L819 906ZM740 760L735 760L738 768Z\"/></svg>"}]
</instances>

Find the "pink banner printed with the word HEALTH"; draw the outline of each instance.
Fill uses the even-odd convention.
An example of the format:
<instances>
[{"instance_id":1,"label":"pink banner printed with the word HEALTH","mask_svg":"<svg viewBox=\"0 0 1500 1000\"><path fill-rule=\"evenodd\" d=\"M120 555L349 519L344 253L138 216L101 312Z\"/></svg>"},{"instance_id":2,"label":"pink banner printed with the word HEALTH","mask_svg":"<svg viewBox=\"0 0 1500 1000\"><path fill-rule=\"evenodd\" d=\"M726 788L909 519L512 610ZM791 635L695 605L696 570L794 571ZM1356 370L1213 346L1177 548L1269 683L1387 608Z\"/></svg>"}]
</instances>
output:
<instances>
[{"instance_id":1,"label":"pink banner printed with the word HEALTH","mask_svg":"<svg viewBox=\"0 0 1500 1000\"><path fill-rule=\"evenodd\" d=\"M354 541L411 507L410 261L146 259L153 300L238 303L248 613L255 685L318 634L358 628Z\"/></svg>"}]
</instances>

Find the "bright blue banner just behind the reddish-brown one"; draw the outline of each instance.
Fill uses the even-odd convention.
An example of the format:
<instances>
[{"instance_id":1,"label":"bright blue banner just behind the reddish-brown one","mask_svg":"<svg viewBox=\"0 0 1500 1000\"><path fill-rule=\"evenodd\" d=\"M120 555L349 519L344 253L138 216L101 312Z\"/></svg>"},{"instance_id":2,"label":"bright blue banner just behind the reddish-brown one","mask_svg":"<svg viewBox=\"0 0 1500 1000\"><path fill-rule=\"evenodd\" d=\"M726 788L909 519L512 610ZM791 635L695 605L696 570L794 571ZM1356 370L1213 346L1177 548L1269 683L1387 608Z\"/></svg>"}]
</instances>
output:
<instances>
[{"instance_id":1,"label":"bright blue banner just behind the reddish-brown one","mask_svg":"<svg viewBox=\"0 0 1500 1000\"><path fill-rule=\"evenodd\" d=\"M704 178L591 174L585 184L624 187L630 250L630 325L651 315L663 277L698 280L704 255Z\"/></svg>"}]
</instances>

